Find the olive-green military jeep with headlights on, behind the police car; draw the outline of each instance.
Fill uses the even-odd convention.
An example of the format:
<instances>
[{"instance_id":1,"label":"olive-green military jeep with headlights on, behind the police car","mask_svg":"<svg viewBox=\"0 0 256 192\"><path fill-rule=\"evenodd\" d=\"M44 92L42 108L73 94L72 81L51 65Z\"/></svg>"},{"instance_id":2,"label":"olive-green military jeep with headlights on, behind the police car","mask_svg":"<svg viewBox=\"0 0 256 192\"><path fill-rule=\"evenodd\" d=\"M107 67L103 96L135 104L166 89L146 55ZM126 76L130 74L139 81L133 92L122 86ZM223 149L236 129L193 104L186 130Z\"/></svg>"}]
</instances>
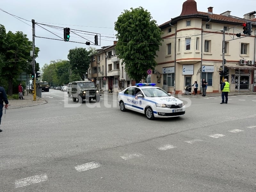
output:
<instances>
[{"instance_id":1,"label":"olive-green military jeep with headlights on, behind the police car","mask_svg":"<svg viewBox=\"0 0 256 192\"><path fill-rule=\"evenodd\" d=\"M100 102L100 91L95 87L95 84L85 79L84 81L73 81L71 84L72 100L83 103L83 100L96 100Z\"/></svg>"}]
</instances>

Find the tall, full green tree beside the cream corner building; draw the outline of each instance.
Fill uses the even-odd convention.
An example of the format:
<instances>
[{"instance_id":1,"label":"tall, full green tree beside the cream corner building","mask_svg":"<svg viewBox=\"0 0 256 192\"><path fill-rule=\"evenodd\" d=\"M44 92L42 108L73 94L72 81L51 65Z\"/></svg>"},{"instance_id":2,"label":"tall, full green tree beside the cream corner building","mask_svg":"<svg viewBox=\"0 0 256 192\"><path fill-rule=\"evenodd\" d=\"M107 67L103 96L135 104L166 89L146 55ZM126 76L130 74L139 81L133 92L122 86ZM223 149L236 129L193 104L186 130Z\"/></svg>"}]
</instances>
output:
<instances>
[{"instance_id":1,"label":"tall, full green tree beside the cream corner building","mask_svg":"<svg viewBox=\"0 0 256 192\"><path fill-rule=\"evenodd\" d=\"M131 79L139 82L147 76L148 69L157 65L156 51L162 45L161 29L151 14L142 7L131 8L124 12L115 22L116 53L125 62L125 71Z\"/></svg>"}]
</instances>

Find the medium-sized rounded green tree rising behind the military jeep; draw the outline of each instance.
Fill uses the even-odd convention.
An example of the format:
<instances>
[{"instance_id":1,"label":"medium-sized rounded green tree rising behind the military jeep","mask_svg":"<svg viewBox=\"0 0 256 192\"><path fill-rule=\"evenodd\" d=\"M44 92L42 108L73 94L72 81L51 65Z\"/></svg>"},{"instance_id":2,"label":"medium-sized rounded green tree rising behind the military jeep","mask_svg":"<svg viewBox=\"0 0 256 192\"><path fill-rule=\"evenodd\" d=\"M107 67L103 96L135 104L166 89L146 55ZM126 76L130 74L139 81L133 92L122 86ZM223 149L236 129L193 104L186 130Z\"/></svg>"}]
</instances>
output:
<instances>
[{"instance_id":1,"label":"medium-sized rounded green tree rising behind the military jeep","mask_svg":"<svg viewBox=\"0 0 256 192\"><path fill-rule=\"evenodd\" d=\"M84 75L90 66L91 52L87 51L85 48L75 48L70 49L68 53L68 60L70 62L72 73L79 74L79 76L84 79Z\"/></svg>"}]
</instances>

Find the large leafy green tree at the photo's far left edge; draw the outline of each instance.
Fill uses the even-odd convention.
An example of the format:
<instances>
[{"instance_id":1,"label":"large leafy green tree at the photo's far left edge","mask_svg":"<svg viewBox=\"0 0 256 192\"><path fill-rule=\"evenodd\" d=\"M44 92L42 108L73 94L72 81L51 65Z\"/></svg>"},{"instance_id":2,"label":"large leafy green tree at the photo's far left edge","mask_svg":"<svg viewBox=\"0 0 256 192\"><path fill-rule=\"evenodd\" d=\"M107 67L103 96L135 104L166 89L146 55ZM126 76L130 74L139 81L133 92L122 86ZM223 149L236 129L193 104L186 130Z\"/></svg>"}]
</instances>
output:
<instances>
[{"instance_id":1,"label":"large leafy green tree at the photo's far left edge","mask_svg":"<svg viewBox=\"0 0 256 192\"><path fill-rule=\"evenodd\" d=\"M30 51L32 42L28 40L27 35L21 31L7 34L3 25L0 25L0 75L8 81L8 94L12 95L13 79L17 78L20 73L31 72ZM3 40L4 39L4 40ZM37 57L39 48L35 47L35 56ZM36 65L39 70L39 65Z\"/></svg>"}]
</instances>

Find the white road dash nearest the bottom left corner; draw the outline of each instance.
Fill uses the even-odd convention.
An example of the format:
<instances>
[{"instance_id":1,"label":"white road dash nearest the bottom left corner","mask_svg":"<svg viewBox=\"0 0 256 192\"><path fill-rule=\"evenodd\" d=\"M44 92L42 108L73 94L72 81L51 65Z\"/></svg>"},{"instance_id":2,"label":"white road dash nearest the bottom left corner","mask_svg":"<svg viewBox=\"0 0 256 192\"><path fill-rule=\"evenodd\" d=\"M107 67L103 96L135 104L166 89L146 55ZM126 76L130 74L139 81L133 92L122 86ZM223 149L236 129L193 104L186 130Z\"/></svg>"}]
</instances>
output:
<instances>
[{"instance_id":1,"label":"white road dash nearest the bottom left corner","mask_svg":"<svg viewBox=\"0 0 256 192\"><path fill-rule=\"evenodd\" d=\"M46 181L47 179L48 177L46 174L41 174L41 175L35 175L32 177L16 180L15 188L24 187L24 186L35 184L35 183L40 183L40 182Z\"/></svg>"}]
</instances>

